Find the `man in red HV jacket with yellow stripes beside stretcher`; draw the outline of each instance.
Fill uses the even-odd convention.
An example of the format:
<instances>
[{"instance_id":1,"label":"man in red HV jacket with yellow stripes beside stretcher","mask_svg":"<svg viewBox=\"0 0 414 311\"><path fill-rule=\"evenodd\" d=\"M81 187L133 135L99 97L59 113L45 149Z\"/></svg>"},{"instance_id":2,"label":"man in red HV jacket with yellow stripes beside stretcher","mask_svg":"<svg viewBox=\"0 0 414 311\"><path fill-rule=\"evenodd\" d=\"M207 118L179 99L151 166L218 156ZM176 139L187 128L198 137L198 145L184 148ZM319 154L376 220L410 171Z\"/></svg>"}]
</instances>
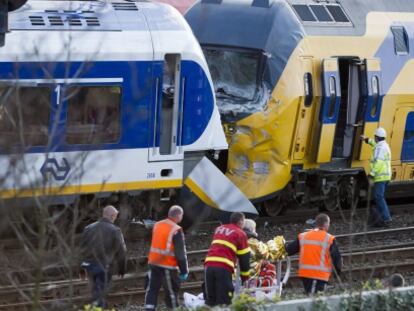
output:
<instances>
[{"instance_id":1,"label":"man in red HV jacket with yellow stripes beside stretcher","mask_svg":"<svg viewBox=\"0 0 414 311\"><path fill-rule=\"evenodd\" d=\"M214 231L213 241L204 262L205 301L208 306L229 305L233 296L233 274L237 263L243 282L249 278L250 248L242 230L243 213L232 213L230 224Z\"/></svg>"}]
</instances>

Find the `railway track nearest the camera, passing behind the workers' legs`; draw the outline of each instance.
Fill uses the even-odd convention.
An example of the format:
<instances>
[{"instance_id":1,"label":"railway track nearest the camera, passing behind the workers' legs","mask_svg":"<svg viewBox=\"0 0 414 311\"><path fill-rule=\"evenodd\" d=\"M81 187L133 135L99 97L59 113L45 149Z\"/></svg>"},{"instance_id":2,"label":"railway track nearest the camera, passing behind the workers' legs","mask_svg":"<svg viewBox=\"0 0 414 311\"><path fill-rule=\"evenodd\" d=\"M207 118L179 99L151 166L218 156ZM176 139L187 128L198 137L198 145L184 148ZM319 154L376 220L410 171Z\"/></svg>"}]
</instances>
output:
<instances>
[{"instance_id":1,"label":"railway track nearest the camera, passing behind the workers' legs","mask_svg":"<svg viewBox=\"0 0 414 311\"><path fill-rule=\"evenodd\" d=\"M378 262L373 264L370 256L381 257L381 260L388 262ZM410 258L408 259L407 256ZM345 259L350 259L351 254L344 254ZM404 261L399 259L404 257ZM357 260L357 258L359 258ZM369 278L369 277L383 277L394 272L404 273L414 269L414 246L407 248L389 249L382 251L368 251L368 252L354 252L351 261L355 261L352 265L347 265L342 273L342 281L347 280L350 276L352 278ZM359 262L359 260L361 260ZM295 266L295 260L293 260ZM203 267L197 266L191 268L190 282L186 282L182 286L183 291L200 292L202 281L199 279L203 275ZM126 304L131 302L142 302L145 290L143 286L139 286L139 280L145 277L143 273L129 274L125 279L115 279L113 292L109 295L109 301L112 304ZM299 285L299 278L293 272L289 279L291 286ZM73 298L68 297L69 288L72 288ZM16 293L12 288L0 288L0 310L25 310L30 308L31 302L24 302L22 295L30 297L30 291L33 290L30 286L20 289L21 292ZM12 296L14 299L12 299ZM23 300L23 301L22 301ZM49 308L64 308L65 305L83 304L87 303L89 296L87 294L87 283L81 280L52 282L42 284L42 299L41 304Z\"/></svg>"}]
</instances>

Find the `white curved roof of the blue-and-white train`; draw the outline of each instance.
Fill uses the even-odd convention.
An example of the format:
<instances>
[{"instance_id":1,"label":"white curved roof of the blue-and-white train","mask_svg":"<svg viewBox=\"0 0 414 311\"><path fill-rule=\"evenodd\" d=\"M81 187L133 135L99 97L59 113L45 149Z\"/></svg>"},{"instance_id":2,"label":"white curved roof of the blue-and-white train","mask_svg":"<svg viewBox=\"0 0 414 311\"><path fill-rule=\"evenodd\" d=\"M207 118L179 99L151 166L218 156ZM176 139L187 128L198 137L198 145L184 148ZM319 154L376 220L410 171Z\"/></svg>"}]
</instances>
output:
<instances>
[{"instance_id":1,"label":"white curved roof of the blue-and-white train","mask_svg":"<svg viewBox=\"0 0 414 311\"><path fill-rule=\"evenodd\" d=\"M71 60L80 61L152 60L165 53L203 58L182 15L162 3L29 0L9 14L9 30L0 61L64 60L68 46Z\"/></svg>"}]
</instances>

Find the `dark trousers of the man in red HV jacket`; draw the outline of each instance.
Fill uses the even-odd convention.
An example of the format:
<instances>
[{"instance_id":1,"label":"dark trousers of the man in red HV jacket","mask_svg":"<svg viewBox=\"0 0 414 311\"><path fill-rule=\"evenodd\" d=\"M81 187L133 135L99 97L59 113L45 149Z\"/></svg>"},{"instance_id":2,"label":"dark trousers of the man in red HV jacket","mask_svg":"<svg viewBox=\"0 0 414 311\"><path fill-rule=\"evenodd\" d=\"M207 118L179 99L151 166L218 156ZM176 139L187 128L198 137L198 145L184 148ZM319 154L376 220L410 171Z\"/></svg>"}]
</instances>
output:
<instances>
[{"instance_id":1,"label":"dark trousers of the man in red HV jacket","mask_svg":"<svg viewBox=\"0 0 414 311\"><path fill-rule=\"evenodd\" d=\"M232 273L226 268L204 268L205 301L210 307L229 305L233 297Z\"/></svg>"}]
</instances>

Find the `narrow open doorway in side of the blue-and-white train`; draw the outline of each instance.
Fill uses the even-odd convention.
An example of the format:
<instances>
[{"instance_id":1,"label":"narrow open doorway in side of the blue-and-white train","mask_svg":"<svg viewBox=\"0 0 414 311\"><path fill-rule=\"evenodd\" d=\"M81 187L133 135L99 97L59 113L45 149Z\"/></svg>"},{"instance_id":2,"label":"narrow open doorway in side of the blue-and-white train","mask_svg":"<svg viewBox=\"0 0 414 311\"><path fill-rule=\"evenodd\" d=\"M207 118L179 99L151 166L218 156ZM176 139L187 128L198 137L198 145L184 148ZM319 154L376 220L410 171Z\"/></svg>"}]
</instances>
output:
<instances>
[{"instance_id":1,"label":"narrow open doorway in side of the blue-and-white train","mask_svg":"<svg viewBox=\"0 0 414 311\"><path fill-rule=\"evenodd\" d=\"M180 141L183 122L180 54L166 54L161 71L154 79L155 105L152 106L154 122L150 138L150 161L183 158Z\"/></svg>"}]
</instances>

